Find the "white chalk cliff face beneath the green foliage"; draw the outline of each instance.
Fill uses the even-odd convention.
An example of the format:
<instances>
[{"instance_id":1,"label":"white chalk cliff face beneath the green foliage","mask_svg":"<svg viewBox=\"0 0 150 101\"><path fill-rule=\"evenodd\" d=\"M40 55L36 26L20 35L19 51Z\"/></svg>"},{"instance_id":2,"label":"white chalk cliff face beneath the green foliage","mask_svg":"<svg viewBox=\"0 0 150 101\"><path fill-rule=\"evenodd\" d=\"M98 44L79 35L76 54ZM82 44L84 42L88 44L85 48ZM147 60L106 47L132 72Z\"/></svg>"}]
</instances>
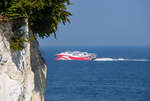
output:
<instances>
[{"instance_id":1,"label":"white chalk cliff face beneath the green foliage","mask_svg":"<svg viewBox=\"0 0 150 101\"><path fill-rule=\"evenodd\" d=\"M19 30L24 37L30 36L26 20ZM22 51L12 51L9 40L13 34L11 22L0 22L0 101L44 101L46 65L38 42L26 42Z\"/></svg>"}]
</instances>

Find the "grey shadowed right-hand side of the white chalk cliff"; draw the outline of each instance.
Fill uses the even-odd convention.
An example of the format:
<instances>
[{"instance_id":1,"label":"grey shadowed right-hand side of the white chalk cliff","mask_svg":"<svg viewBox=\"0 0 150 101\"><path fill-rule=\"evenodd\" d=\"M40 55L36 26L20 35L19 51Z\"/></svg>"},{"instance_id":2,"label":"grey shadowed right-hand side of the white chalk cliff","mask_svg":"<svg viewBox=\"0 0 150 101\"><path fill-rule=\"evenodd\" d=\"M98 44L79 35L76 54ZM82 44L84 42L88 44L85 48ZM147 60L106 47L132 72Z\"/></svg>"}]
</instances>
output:
<instances>
[{"instance_id":1,"label":"grey shadowed right-hand side of the white chalk cliff","mask_svg":"<svg viewBox=\"0 0 150 101\"><path fill-rule=\"evenodd\" d=\"M30 43L30 59L31 69L34 72L35 91L40 92L41 96L45 95L46 89L46 67L44 59L39 51L39 43L37 40L32 40Z\"/></svg>"}]
</instances>

